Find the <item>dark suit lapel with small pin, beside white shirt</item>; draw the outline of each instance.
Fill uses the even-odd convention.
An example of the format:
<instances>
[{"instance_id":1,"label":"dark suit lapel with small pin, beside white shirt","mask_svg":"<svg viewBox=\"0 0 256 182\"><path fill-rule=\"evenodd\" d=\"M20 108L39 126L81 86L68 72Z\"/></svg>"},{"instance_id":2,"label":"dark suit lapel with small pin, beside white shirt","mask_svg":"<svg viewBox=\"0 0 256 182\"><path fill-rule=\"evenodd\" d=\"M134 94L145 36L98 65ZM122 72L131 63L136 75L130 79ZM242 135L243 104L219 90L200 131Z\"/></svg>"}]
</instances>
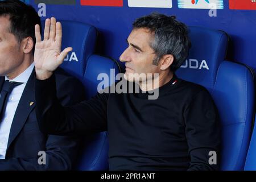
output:
<instances>
[{"instance_id":1,"label":"dark suit lapel with small pin, beside white shirt","mask_svg":"<svg viewBox=\"0 0 256 182\"><path fill-rule=\"evenodd\" d=\"M27 84L22 93L22 97L19 100L19 104L13 118L13 123L11 124L7 150L10 144L19 134L20 130L22 130L22 127L26 122L28 115L31 113L32 109L34 109L35 107L34 85L35 85L35 69L32 71L30 78L28 78Z\"/></svg>"}]
</instances>

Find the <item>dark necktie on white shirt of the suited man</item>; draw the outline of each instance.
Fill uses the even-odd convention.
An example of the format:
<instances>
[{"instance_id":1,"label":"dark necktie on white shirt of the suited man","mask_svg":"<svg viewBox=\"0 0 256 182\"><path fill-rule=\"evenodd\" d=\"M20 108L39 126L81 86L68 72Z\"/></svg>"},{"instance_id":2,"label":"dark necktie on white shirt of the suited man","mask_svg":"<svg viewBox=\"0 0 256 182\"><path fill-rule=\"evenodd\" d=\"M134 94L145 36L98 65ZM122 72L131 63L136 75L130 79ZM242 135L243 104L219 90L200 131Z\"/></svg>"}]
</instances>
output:
<instances>
[{"instance_id":1,"label":"dark necktie on white shirt of the suited man","mask_svg":"<svg viewBox=\"0 0 256 182\"><path fill-rule=\"evenodd\" d=\"M21 84L23 84L23 83L22 82L9 81L9 80L5 80L5 82L3 83L2 90L1 90L1 96L0 96L0 122L3 119L3 114L5 114L7 101L8 101L8 98L9 98L9 95L10 95L11 91L13 90L13 88L15 86L18 86L18 85L21 85Z\"/></svg>"}]
</instances>

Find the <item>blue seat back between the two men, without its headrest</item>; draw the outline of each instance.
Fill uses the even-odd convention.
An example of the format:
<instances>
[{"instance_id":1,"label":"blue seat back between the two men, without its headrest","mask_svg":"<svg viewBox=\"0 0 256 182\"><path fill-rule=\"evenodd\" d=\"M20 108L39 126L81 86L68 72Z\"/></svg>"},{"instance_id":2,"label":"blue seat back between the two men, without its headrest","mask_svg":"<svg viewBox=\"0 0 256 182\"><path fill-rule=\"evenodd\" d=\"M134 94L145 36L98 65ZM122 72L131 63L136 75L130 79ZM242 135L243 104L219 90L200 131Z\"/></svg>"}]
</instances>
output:
<instances>
[{"instance_id":1,"label":"blue seat back between the two men, without its headrest","mask_svg":"<svg viewBox=\"0 0 256 182\"><path fill-rule=\"evenodd\" d=\"M112 69L112 71L110 70ZM98 80L100 73L109 77L109 85L114 83L115 76L121 71L117 61L100 55L92 55L88 59L84 74L86 98L97 93L97 86L102 80ZM82 139L82 149L76 169L79 170L108 170L109 140L108 133L101 132L86 135Z\"/></svg>"}]
</instances>

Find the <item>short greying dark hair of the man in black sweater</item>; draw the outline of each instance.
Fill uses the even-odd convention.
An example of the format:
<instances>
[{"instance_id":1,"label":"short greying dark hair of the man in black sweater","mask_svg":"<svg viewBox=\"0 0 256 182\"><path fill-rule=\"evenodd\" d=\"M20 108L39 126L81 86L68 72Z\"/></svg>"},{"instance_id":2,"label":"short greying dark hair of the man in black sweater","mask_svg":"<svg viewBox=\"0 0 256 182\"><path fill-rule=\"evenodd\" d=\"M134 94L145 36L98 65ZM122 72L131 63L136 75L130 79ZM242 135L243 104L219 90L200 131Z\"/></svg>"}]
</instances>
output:
<instances>
[{"instance_id":1,"label":"short greying dark hair of the man in black sweater","mask_svg":"<svg viewBox=\"0 0 256 182\"><path fill-rule=\"evenodd\" d=\"M175 16L152 13L136 19L133 29L136 28L148 28L155 36L150 43L156 53L154 65L158 65L164 55L170 54L174 56L170 69L175 72L187 58L191 47L188 28L184 23L177 21Z\"/></svg>"}]
</instances>

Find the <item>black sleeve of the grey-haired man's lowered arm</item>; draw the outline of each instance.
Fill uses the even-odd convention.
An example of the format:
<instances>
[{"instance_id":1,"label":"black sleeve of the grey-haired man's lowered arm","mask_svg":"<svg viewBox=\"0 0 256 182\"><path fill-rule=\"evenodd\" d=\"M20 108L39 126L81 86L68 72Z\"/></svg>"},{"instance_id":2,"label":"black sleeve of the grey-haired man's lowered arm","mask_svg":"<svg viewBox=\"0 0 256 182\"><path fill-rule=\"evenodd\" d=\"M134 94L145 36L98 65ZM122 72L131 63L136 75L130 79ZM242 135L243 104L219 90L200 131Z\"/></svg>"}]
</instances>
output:
<instances>
[{"instance_id":1,"label":"black sleeve of the grey-haired man's lowered arm","mask_svg":"<svg viewBox=\"0 0 256 182\"><path fill-rule=\"evenodd\" d=\"M201 90L184 111L185 133L191 163L189 171L218 170L220 122L217 108L206 89Z\"/></svg>"}]
</instances>

